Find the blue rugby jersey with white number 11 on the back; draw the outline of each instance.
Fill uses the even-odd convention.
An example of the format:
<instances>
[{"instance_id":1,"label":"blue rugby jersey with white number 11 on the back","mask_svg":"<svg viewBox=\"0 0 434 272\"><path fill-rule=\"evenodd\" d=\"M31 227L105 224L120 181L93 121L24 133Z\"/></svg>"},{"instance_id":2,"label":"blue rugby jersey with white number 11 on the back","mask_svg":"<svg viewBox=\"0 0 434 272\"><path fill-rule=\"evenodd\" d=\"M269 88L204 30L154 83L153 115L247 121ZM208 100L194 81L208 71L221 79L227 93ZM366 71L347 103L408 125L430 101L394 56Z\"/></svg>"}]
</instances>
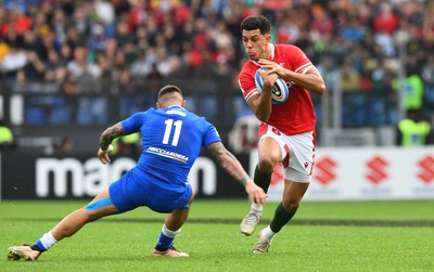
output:
<instances>
[{"instance_id":1,"label":"blue rugby jersey with white number 11 on the back","mask_svg":"<svg viewBox=\"0 0 434 272\"><path fill-rule=\"evenodd\" d=\"M127 134L141 133L137 167L168 184L184 184L202 146L221 141L213 124L181 106L150 108L120 124Z\"/></svg>"}]
</instances>

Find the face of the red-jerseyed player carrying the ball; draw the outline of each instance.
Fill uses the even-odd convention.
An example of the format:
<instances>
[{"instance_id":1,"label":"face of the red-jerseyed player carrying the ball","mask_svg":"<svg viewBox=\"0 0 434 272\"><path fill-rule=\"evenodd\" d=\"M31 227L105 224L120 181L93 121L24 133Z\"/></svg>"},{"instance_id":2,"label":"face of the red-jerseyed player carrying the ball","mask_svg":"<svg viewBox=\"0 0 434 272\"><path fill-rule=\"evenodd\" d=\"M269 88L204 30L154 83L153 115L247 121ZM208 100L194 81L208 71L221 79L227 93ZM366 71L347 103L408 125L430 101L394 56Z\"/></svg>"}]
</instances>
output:
<instances>
[{"instance_id":1,"label":"face of the red-jerseyed player carrying the ball","mask_svg":"<svg viewBox=\"0 0 434 272\"><path fill-rule=\"evenodd\" d=\"M243 30L243 47L248 60L268 59L270 35L261 35L259 29Z\"/></svg>"}]
</instances>

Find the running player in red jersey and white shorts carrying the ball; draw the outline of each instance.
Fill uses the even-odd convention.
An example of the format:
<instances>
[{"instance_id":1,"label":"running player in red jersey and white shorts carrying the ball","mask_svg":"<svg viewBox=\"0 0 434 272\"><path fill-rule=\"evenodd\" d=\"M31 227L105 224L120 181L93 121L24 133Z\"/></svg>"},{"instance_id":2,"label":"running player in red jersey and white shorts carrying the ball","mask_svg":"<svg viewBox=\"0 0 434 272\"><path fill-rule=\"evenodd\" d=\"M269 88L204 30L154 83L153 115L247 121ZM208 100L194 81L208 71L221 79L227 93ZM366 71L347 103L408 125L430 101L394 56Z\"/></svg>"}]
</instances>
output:
<instances>
[{"instance_id":1,"label":"running player in red jersey and white shorts carrying the ball","mask_svg":"<svg viewBox=\"0 0 434 272\"><path fill-rule=\"evenodd\" d=\"M284 190L270 224L258 234L254 254L268 251L271 241L297 211L311 179L315 163L316 116L310 93L322 95L324 81L315 65L297 47L272 44L271 23L263 15L246 17L240 25L243 47L248 61L239 74L243 96L260 120L258 165L254 181L265 192L277 164L283 164ZM256 89L255 73L264 79L261 91ZM272 86L281 77L290 94L283 104L271 101ZM245 235L251 235L263 213L263 205L252 204L251 211L240 224Z\"/></svg>"}]
</instances>

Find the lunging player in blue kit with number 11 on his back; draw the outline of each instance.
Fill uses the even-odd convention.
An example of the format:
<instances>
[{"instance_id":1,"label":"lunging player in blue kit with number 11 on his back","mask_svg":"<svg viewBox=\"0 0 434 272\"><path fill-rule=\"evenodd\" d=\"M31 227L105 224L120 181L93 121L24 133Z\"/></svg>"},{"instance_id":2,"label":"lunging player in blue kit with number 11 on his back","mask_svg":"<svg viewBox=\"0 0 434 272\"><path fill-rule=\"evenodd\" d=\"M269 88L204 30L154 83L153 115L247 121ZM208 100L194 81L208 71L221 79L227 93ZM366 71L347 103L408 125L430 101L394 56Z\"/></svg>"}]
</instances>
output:
<instances>
[{"instance_id":1,"label":"lunging player in blue kit with number 11 on his back","mask_svg":"<svg viewBox=\"0 0 434 272\"><path fill-rule=\"evenodd\" d=\"M226 150L214 125L186 109L178 87L162 88L156 106L157 109L137 113L101 134L98 157L107 164L114 139L140 132L143 148L136 167L103 190L89 205L66 216L34 245L10 247L11 259L37 260L43 251L74 235L85 224L140 206L167 213L151 256L188 257L188 254L175 249L173 243L194 199L187 177L202 146L245 186L253 203L265 204L267 195L264 190L255 185L240 161Z\"/></svg>"}]
</instances>

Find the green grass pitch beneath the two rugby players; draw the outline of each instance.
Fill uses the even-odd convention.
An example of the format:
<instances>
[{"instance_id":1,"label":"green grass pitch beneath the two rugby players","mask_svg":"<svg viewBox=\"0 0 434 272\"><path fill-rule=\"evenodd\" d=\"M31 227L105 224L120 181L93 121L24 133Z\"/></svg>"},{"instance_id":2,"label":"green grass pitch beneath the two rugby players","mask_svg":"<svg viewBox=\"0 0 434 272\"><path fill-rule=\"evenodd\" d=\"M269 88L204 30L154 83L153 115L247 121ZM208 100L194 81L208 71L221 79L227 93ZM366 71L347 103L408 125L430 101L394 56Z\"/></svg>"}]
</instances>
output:
<instances>
[{"instance_id":1,"label":"green grass pitch beneath the two rugby players","mask_svg":"<svg viewBox=\"0 0 434 272\"><path fill-rule=\"evenodd\" d=\"M175 244L190 258L150 258L164 216L139 208L86 225L37 262L7 260L9 246L35 242L86 203L0 203L0 271L434 271L434 200L304 203L258 256L257 232L238 229L248 202L197 199Z\"/></svg>"}]
</instances>

